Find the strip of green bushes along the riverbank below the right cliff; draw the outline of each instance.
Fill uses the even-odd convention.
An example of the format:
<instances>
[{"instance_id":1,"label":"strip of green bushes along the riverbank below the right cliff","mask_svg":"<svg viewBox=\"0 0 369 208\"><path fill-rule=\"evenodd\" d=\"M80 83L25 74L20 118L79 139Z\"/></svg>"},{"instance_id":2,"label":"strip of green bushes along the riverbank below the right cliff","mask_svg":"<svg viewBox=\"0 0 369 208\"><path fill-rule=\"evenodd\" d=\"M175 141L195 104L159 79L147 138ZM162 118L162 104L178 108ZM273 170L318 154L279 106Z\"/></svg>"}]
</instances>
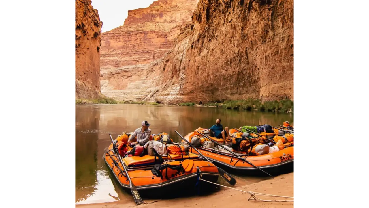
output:
<instances>
[{"instance_id":1,"label":"strip of green bushes along the riverbank below the right cliff","mask_svg":"<svg viewBox=\"0 0 369 208\"><path fill-rule=\"evenodd\" d=\"M259 111L278 111L278 112L294 112L294 104L292 100L285 99L280 101L265 101L247 99L247 100L226 100L223 103L206 103L204 106L217 106L227 109L239 110L259 110Z\"/></svg>"}]
</instances>

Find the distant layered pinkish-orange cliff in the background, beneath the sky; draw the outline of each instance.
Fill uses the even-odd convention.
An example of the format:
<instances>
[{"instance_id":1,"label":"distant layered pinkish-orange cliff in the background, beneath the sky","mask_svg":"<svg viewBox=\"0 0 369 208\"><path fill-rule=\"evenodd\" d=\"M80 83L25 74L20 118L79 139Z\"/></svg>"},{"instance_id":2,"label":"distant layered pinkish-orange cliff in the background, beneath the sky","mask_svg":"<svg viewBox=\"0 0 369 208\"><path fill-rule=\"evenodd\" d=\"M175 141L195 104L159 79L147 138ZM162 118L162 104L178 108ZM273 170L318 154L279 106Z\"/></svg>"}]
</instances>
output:
<instances>
[{"instance_id":1,"label":"distant layered pinkish-orange cliff in the background, beneath the sky","mask_svg":"<svg viewBox=\"0 0 369 208\"><path fill-rule=\"evenodd\" d=\"M198 0L158 0L128 11L124 25L102 33L101 93L117 100L142 100L150 64L172 50L180 27L192 21ZM138 93L137 93L138 92Z\"/></svg>"}]
</instances>

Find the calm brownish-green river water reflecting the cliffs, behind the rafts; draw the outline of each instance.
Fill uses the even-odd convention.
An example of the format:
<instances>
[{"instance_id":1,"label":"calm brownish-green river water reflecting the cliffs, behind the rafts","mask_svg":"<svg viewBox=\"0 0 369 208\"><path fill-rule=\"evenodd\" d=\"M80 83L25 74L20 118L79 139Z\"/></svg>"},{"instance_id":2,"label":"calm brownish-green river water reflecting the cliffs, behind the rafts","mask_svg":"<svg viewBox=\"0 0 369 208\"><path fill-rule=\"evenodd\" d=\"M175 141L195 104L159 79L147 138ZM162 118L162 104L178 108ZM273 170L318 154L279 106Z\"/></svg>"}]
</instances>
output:
<instances>
[{"instance_id":1,"label":"calm brownish-green river water reflecting the cliffs, behind the rafts","mask_svg":"<svg viewBox=\"0 0 369 208\"><path fill-rule=\"evenodd\" d=\"M167 132L179 141L198 127L210 128L217 118L223 128L242 125L282 125L283 121L294 123L294 115L259 111L227 110L214 107L100 104L76 105L75 107L75 201L76 204L92 204L113 201L134 201L130 192L124 191L109 177L102 158L104 148L122 131L132 132L148 121L153 134ZM232 174L232 173L230 173ZM234 174L232 174L234 175ZM238 186L251 184L265 178L234 175ZM228 185L222 178L218 182ZM221 187L221 189L224 187Z\"/></svg>"}]
</instances>

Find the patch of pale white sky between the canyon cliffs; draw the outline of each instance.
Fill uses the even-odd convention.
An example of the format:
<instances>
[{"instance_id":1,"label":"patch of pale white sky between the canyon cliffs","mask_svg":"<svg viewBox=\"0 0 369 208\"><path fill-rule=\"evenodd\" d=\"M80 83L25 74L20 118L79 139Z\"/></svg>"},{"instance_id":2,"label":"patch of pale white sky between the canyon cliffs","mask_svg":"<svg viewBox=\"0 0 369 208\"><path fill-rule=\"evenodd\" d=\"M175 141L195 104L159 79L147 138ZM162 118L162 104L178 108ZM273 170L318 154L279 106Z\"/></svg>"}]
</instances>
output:
<instances>
[{"instance_id":1,"label":"patch of pale white sky between the canyon cliffs","mask_svg":"<svg viewBox=\"0 0 369 208\"><path fill-rule=\"evenodd\" d=\"M113 30L124 24L128 10L146 8L155 0L92 0L94 9L99 10L103 21L101 32Z\"/></svg>"}]
</instances>

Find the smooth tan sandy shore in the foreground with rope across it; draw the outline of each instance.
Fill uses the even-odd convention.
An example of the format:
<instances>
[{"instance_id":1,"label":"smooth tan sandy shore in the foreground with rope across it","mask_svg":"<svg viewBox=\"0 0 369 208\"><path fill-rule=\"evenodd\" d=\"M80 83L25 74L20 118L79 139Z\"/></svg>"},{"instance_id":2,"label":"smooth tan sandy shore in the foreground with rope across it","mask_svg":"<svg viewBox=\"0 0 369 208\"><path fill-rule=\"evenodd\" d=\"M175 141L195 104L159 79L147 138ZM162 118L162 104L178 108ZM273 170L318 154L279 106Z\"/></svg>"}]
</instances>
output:
<instances>
[{"instance_id":1,"label":"smooth tan sandy shore in the foreground with rope across it","mask_svg":"<svg viewBox=\"0 0 369 208\"><path fill-rule=\"evenodd\" d=\"M263 202L256 199L248 201L250 194L237 191L230 188L220 187L221 190L207 196L193 196L176 199L159 199L159 200L144 200L145 204L138 205L137 207L149 208L149 207L168 207L168 208L180 208L180 207L248 207L248 208L292 208L294 202ZM264 180L254 184L244 185L238 187L244 191L254 191L263 194L281 195L287 197L294 197L294 173L284 174L276 176L274 179ZM263 200L293 200L293 198L280 198L260 196L256 197ZM76 205L77 208L127 208L136 207L134 202L125 203L124 201L108 202L99 204L82 204Z\"/></svg>"}]
</instances>

